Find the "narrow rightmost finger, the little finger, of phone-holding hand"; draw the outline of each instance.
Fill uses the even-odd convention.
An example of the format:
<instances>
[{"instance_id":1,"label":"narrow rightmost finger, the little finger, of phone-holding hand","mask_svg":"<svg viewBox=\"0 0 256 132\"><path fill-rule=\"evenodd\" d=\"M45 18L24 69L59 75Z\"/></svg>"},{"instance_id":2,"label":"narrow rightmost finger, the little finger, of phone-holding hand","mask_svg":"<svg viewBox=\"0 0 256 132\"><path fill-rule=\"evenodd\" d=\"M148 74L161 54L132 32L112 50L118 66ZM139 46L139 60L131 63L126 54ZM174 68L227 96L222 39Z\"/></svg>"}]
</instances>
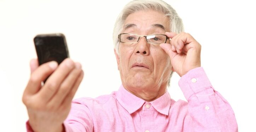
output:
<instances>
[{"instance_id":1,"label":"narrow rightmost finger, the little finger, of phone-holding hand","mask_svg":"<svg viewBox=\"0 0 256 132\"><path fill-rule=\"evenodd\" d=\"M67 107L70 105L72 99L74 98L74 95L80 85L80 83L82 82L83 80L83 71L81 72L80 76L77 78L74 86L72 87L71 91L69 92L69 94L65 97L65 99L63 100L62 102L62 107Z\"/></svg>"}]
</instances>

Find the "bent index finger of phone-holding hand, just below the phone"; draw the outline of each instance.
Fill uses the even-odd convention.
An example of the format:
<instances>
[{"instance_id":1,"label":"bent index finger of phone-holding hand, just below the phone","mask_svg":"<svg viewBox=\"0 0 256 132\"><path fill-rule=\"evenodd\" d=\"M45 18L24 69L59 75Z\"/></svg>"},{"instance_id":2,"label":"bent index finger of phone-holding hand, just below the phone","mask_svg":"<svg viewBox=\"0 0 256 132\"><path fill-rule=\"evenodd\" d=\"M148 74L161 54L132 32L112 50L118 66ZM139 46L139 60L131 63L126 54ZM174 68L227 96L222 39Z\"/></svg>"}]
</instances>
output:
<instances>
[{"instance_id":1,"label":"bent index finger of phone-holding hand, just below the phone","mask_svg":"<svg viewBox=\"0 0 256 132\"><path fill-rule=\"evenodd\" d=\"M35 66L35 65L33 65ZM53 71L57 68L58 63L55 61L47 62L42 64L40 67L35 69L30 75L30 79L27 87L24 90L24 94L33 95L37 93L41 88L41 82L50 76Z\"/></svg>"}]
</instances>

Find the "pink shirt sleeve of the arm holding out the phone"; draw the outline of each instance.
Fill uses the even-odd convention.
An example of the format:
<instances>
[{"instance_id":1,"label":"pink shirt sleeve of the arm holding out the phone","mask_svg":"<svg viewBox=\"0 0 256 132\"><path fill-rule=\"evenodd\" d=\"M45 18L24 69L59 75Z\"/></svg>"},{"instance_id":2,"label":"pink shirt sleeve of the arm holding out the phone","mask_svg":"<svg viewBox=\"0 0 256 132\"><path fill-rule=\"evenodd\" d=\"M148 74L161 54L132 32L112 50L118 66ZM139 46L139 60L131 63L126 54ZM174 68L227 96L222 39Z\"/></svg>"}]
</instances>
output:
<instances>
[{"instance_id":1,"label":"pink shirt sleeve of the arm holding out the phone","mask_svg":"<svg viewBox=\"0 0 256 132\"><path fill-rule=\"evenodd\" d=\"M73 101L68 118L64 121L65 132L93 132L91 117L86 105Z\"/></svg>"}]
</instances>

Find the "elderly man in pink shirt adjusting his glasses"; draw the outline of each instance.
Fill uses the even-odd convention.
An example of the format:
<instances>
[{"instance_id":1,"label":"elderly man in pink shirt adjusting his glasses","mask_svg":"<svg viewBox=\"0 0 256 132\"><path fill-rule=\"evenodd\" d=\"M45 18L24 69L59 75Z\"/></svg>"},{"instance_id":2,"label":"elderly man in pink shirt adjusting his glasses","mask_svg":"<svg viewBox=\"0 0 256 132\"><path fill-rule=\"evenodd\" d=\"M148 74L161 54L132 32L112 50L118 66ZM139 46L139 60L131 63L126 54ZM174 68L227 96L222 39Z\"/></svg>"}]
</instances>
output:
<instances>
[{"instance_id":1,"label":"elderly man in pink shirt adjusting his glasses","mask_svg":"<svg viewBox=\"0 0 256 132\"><path fill-rule=\"evenodd\" d=\"M122 85L110 95L71 100L83 78L79 63L31 61L24 91L28 131L36 132L236 132L229 103L200 67L200 44L161 0L129 2L114 28ZM170 98L172 72L186 101ZM51 75L41 87L41 81ZM106 86L107 87L107 86Z\"/></svg>"}]
</instances>

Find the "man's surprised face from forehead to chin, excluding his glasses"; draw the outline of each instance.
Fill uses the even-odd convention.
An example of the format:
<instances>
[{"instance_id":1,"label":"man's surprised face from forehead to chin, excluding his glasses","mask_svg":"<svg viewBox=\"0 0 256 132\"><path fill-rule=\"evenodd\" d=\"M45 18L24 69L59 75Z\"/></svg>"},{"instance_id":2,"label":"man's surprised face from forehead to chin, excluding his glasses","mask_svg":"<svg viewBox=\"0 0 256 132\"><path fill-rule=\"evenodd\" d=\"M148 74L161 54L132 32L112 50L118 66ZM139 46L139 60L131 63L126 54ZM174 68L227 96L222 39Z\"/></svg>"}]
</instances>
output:
<instances>
[{"instance_id":1,"label":"man's surprised face from forehead to chin, excluding his glasses","mask_svg":"<svg viewBox=\"0 0 256 132\"><path fill-rule=\"evenodd\" d=\"M169 19L157 11L137 11L127 17L122 33L165 34L169 24ZM170 58L159 44L149 44L144 37L138 43L120 43L116 58L124 87L153 90L167 86Z\"/></svg>"}]
</instances>

